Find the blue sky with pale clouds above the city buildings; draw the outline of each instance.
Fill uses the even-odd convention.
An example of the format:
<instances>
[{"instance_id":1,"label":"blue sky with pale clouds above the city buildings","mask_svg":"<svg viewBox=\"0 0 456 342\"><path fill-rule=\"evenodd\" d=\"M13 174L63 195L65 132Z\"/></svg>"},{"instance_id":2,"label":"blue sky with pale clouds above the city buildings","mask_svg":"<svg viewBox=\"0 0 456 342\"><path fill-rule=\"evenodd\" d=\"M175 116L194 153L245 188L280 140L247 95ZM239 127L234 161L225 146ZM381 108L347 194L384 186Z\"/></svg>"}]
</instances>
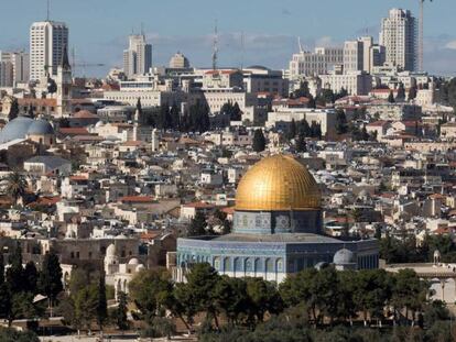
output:
<instances>
[{"instance_id":1,"label":"blue sky with pale clouds above the city buildings","mask_svg":"<svg viewBox=\"0 0 456 342\"><path fill-rule=\"evenodd\" d=\"M18 11L26 1L20 0L4 4L6 12ZM105 76L110 67L122 65L122 51L128 45L128 35L139 32L141 24L153 45L154 65L167 64L171 56L183 52L192 65L210 66L211 41L215 20L219 29L219 65L247 66L261 64L272 68L286 68L292 53L297 52L296 37L301 36L306 48L316 45L341 45L345 40L359 35L372 35L379 40L381 18L388 15L392 7L409 9L417 16L417 1L382 1L363 4L357 0L344 4L328 1L252 1L241 3L213 3L203 0L198 3L180 3L173 0L152 5L143 0L134 2L128 12L128 5L106 0L90 3L87 0L72 3L68 0L56 3L51 1L51 19L67 23L69 46L76 49L76 59L83 63L104 62L105 67L82 70L87 75ZM2 49L28 49L28 32L33 21L46 16L46 1L35 1L28 5L31 11L18 20L4 18L0 30L8 34L0 37ZM131 7L131 3L129 3ZM141 11L137 9L141 8ZM174 21L166 15L156 15L155 11L173 11ZM180 11L176 11L180 9ZM251 13L256 9L256 13ZM455 75L453 60L456 58L456 36L452 36L449 13L456 4L442 0L425 3L425 62L424 69L438 75ZM312 13L326 10L327 20L321 21ZM116 13L128 13L119 19ZM191 20L198 13L200 20ZM248 14L247 14L248 13ZM108 15L109 14L109 15ZM343 15L341 15L343 14ZM349 15L360 18L349 18ZM82 16L86 15L86 16ZM230 20L237 15L237 20ZM252 18L252 15L254 18ZM445 18L448 16L448 20ZM84 25L80 20L84 18ZM116 21L104 18L118 18ZM268 19L271 19L268 21ZM438 25L436 24L438 22ZM98 27L97 27L97 24ZM241 36L245 47L242 52Z\"/></svg>"}]
</instances>

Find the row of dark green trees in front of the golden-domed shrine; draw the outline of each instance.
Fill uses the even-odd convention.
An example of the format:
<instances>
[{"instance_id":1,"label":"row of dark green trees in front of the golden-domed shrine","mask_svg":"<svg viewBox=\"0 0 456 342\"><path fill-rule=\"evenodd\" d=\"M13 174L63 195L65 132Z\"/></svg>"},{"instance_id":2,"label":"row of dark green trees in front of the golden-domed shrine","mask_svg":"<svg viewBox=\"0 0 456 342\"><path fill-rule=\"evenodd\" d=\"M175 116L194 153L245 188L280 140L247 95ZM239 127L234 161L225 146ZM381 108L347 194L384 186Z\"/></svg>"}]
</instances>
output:
<instances>
[{"instance_id":1,"label":"row of dark green trees in front of the golden-domed shrine","mask_svg":"<svg viewBox=\"0 0 456 342\"><path fill-rule=\"evenodd\" d=\"M298 315L300 324L316 330L356 323L416 323L425 328L430 306L430 286L412 269L393 274L383 269L307 268L278 287L261 278L219 275L209 264L194 264L186 280L173 283L165 269L142 271L129 286L138 315L153 327L156 319L162 322L171 312L188 330L203 315L199 333L220 337L228 330L256 331L271 318L290 311ZM171 333L175 327L171 320L169 324Z\"/></svg>"}]
</instances>

